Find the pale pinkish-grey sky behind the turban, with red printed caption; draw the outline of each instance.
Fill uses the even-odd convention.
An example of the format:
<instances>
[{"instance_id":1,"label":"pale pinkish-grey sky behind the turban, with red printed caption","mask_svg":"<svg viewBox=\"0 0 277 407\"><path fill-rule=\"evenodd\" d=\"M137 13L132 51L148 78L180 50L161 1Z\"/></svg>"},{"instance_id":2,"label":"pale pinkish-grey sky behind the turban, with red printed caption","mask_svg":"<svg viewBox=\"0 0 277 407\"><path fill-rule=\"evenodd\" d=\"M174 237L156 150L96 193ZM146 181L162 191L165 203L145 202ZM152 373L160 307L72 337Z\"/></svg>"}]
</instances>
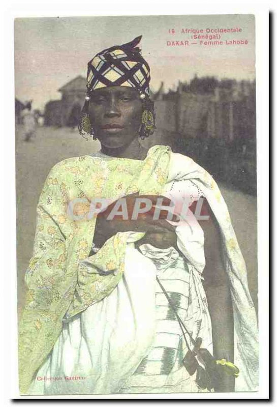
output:
<instances>
[{"instance_id":1,"label":"pale pinkish-grey sky behind the turban, with red printed caption","mask_svg":"<svg viewBox=\"0 0 277 407\"><path fill-rule=\"evenodd\" d=\"M223 45L200 45L195 30L241 28L219 33ZM175 34L169 30L175 29ZM15 19L15 96L33 99L34 108L44 108L59 99L57 90L77 75L86 76L87 62L99 51L121 45L142 35L140 48L150 66L151 88L161 81L166 90L189 81L195 74L221 78L255 78L255 18L249 14L191 16L50 17ZM211 33L209 33L211 35ZM168 46L170 41L189 41L189 46ZM204 41L220 41L206 39ZM229 44L226 44L225 41ZM247 45L231 45L247 40ZM197 44L191 44L197 42Z\"/></svg>"}]
</instances>

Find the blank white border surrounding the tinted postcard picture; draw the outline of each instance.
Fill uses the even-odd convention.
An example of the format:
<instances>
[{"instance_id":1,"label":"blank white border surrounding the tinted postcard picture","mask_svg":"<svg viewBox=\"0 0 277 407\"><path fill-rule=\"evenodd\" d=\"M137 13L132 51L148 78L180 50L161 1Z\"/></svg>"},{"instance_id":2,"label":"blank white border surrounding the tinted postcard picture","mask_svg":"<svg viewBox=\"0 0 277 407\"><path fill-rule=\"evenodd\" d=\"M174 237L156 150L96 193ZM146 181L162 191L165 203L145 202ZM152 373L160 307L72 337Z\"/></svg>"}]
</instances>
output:
<instances>
[{"instance_id":1,"label":"blank white border surrounding the tinted postcard picture","mask_svg":"<svg viewBox=\"0 0 277 407\"><path fill-rule=\"evenodd\" d=\"M43 398L20 397L17 390L17 307L16 307L16 235L15 235L15 158L14 158L14 60L13 60L13 19L15 17L42 16L85 16L85 15L188 15L188 14L255 14L256 15L256 77L257 77L257 151L258 151L258 265L259 265L259 322L260 322L260 390L257 393L197 393L197 394L143 394L140 399L267 399L268 398L268 7L252 2L249 4L208 4L201 2L188 5L185 2L160 1L150 5L149 1L140 0L136 5L129 2L95 2L85 4L68 1L58 4L50 0L47 4L24 4L7 2L2 14L4 30L5 64L2 72L2 91L4 112L2 118L4 146L2 151L2 177L4 185L1 205L5 239L1 244L2 253L2 335L1 351L4 356L2 364L4 376L0 380L5 384L2 397L9 402L10 398ZM8 199L7 199L8 197ZM3 199L5 198L5 199ZM10 279L8 278L10 277ZM7 283L9 281L9 283ZM4 341L4 343L2 343ZM273 362L272 362L273 363ZM2 369L3 370L3 369ZM3 373L3 372L2 372ZM8 379L8 380L7 380ZM85 396L49 396L58 398L86 398ZM87 396L87 398L125 399L138 398L137 395L104 395ZM6 404L5 402L5 404Z\"/></svg>"}]
</instances>

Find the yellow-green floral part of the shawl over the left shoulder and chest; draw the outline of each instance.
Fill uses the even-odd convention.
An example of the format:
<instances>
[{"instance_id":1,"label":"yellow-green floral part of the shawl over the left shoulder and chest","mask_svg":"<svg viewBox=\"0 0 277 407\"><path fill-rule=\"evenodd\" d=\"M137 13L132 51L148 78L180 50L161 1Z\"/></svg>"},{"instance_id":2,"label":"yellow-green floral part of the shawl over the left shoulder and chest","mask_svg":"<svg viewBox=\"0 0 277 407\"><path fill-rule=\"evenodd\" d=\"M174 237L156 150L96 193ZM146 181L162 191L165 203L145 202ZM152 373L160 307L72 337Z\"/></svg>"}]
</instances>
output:
<instances>
[{"instance_id":1,"label":"yellow-green floral part of the shawl over the left shoulder and chest","mask_svg":"<svg viewBox=\"0 0 277 407\"><path fill-rule=\"evenodd\" d=\"M89 257L95 273L88 274L81 265L89 256L96 223L95 217L85 216L90 200L137 191L161 194L169 161L170 148L155 146L144 161L87 155L61 161L50 171L39 199L34 252L25 277L28 292L19 324L21 394L27 393L51 352L65 315L71 318L108 296L124 273L128 233L117 233ZM76 206L83 220L68 215L69 203L76 198L87 199L87 205ZM138 233L137 240L142 236ZM117 273L111 272L115 269Z\"/></svg>"}]
</instances>

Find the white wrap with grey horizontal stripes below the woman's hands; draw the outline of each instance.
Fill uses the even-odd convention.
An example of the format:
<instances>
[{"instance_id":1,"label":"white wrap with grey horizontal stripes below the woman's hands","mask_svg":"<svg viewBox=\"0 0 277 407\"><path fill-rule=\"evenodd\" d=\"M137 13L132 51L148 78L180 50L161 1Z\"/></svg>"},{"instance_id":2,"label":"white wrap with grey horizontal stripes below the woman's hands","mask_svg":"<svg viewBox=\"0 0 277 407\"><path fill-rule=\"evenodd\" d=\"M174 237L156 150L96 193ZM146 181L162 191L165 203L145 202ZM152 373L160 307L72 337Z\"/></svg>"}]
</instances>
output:
<instances>
[{"instance_id":1,"label":"white wrap with grey horizontal stripes below the woman's hands","mask_svg":"<svg viewBox=\"0 0 277 407\"><path fill-rule=\"evenodd\" d=\"M205 338L205 346L212 352L211 326L199 273L173 247L159 250L142 245L140 251L155 264L160 282L193 338ZM167 261L164 261L165 257ZM193 347L189 335L186 335ZM182 364L187 351L176 315L157 282L155 339L120 393L201 391L195 383L195 375L190 376Z\"/></svg>"}]
</instances>

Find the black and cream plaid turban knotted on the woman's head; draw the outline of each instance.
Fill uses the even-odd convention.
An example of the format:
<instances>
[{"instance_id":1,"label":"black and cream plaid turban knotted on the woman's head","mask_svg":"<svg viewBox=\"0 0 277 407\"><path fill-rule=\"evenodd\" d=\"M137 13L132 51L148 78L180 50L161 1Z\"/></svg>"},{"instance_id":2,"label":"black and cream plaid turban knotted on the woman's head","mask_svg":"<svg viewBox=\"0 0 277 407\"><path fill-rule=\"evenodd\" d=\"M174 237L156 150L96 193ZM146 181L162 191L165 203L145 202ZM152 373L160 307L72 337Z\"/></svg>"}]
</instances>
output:
<instances>
[{"instance_id":1,"label":"black and cream plaid turban knotted on the woman's head","mask_svg":"<svg viewBox=\"0 0 277 407\"><path fill-rule=\"evenodd\" d=\"M149 95L150 68L137 47L141 37L104 49L89 61L88 92L106 86L129 86Z\"/></svg>"}]
</instances>

